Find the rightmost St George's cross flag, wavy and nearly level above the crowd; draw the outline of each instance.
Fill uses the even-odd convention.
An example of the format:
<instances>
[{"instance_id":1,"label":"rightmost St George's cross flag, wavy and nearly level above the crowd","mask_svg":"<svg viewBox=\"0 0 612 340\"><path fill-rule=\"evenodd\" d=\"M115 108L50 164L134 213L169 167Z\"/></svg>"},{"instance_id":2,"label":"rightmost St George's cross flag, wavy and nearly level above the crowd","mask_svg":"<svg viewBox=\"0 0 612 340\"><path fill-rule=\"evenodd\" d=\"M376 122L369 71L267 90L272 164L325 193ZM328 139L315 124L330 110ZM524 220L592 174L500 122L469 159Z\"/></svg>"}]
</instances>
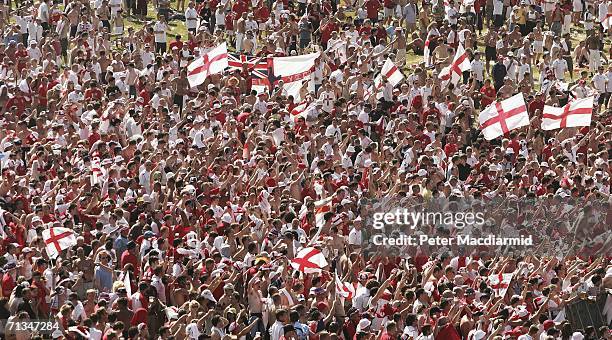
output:
<instances>
[{"instance_id":1,"label":"rightmost St George's cross flag, wavy and nearly level above the crowd","mask_svg":"<svg viewBox=\"0 0 612 340\"><path fill-rule=\"evenodd\" d=\"M594 99L594 97L588 97L573 100L564 107L544 105L542 130L591 125Z\"/></svg>"}]
</instances>

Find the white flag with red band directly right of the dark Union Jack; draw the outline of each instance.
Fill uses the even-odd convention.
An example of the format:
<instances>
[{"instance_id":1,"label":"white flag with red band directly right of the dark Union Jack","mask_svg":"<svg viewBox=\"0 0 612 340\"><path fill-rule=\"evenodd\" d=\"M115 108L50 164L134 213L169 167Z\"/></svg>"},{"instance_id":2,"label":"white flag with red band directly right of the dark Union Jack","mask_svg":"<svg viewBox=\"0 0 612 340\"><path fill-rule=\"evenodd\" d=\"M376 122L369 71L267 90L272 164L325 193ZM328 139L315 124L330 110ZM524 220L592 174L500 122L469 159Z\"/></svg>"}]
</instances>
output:
<instances>
[{"instance_id":1,"label":"white flag with red band directly right of the dark Union Jack","mask_svg":"<svg viewBox=\"0 0 612 340\"><path fill-rule=\"evenodd\" d=\"M268 74L270 86L274 88L279 80L283 81L283 90L288 96L300 100L300 89L304 81L311 80L314 71L314 61L320 53L311 53L293 57L273 58L273 75ZM309 91L314 91L314 82L308 85Z\"/></svg>"}]
</instances>

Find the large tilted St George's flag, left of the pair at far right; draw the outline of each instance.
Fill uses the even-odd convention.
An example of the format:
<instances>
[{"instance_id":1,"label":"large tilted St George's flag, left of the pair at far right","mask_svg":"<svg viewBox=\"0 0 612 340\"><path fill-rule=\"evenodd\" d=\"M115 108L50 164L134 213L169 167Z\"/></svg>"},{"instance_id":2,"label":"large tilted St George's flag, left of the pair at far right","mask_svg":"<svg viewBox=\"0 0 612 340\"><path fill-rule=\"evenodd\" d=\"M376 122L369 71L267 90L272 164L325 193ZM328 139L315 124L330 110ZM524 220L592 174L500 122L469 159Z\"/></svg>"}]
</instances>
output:
<instances>
[{"instance_id":1,"label":"large tilted St George's flag, left of the pair at far right","mask_svg":"<svg viewBox=\"0 0 612 340\"><path fill-rule=\"evenodd\" d=\"M486 140L503 136L508 131L529 125L529 115L523 94L494 102L480 112L480 129Z\"/></svg>"}]
</instances>

